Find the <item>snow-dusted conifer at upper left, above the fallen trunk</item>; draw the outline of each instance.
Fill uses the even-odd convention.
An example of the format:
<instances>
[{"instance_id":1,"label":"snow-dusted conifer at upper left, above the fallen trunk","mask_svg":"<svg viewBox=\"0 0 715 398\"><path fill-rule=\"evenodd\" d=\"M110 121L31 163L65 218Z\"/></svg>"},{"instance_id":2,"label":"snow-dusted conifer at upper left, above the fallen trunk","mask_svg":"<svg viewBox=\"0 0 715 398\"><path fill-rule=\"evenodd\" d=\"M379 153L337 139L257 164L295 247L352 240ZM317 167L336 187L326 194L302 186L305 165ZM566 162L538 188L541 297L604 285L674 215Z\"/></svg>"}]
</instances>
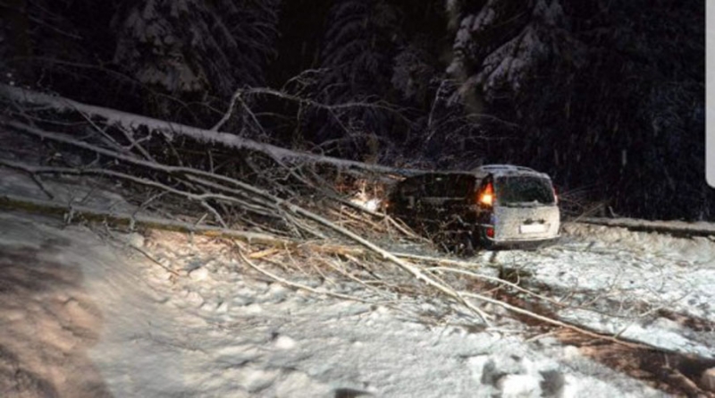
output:
<instances>
[{"instance_id":1,"label":"snow-dusted conifer at upper left, above the fallen trunk","mask_svg":"<svg viewBox=\"0 0 715 398\"><path fill-rule=\"evenodd\" d=\"M264 84L279 0L135 0L115 15L114 63L176 97L226 101Z\"/></svg>"}]
</instances>

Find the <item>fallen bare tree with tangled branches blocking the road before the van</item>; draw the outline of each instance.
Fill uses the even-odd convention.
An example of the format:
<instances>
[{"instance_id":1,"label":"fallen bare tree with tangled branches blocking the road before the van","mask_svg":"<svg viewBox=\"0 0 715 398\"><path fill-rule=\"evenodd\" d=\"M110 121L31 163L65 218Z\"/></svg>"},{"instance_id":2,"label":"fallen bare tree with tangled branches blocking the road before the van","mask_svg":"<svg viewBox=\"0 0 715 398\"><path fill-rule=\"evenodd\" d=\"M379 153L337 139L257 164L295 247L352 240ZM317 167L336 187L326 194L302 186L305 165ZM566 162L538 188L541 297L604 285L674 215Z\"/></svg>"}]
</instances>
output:
<instances>
[{"instance_id":1,"label":"fallen bare tree with tangled branches blocking the road before the van","mask_svg":"<svg viewBox=\"0 0 715 398\"><path fill-rule=\"evenodd\" d=\"M63 215L81 214L90 221L103 221L133 227L137 223L147 228L161 228L188 233L202 233L228 241L240 240L248 244L269 246L288 253L294 250L315 252L320 255L341 256L354 264L374 262L379 267L397 267L402 278L410 282L398 284L379 281L390 289L407 290L411 294L447 299L456 310L466 310L471 322L490 327L492 316L484 303L499 306L510 312L537 319L551 326L566 327L592 338L623 342L618 337L598 334L554 318L552 314L537 313L495 298L490 289L513 289L527 293L532 300L553 305L537 293L527 292L513 282L475 273L480 265L452 260L445 265L442 259L425 256L401 256L386 250L376 240L385 233L408 238L404 228L390 217L351 204L339 191L329 186L319 171L305 165L330 165L335 169L358 175L384 174L408 175L418 173L381 165L367 165L332 157L291 151L267 144L244 140L240 137L196 129L180 124L158 121L144 116L125 114L97 106L88 106L62 97L51 97L28 90L0 86L5 105L14 109L12 118L0 120L7 131L30 137L37 142L53 143L54 150L68 154L81 153L75 165L32 165L16 160L3 160L0 165L21 170L33 177L40 175L89 175L111 181L123 181L139 192L139 203L154 200L157 209L192 221L172 221L147 215L112 215L91 208L58 205L52 200L22 199L5 195L0 204L4 207L42 210ZM46 114L52 115L47 118ZM40 114L43 116L40 117ZM76 123L62 123L66 114L81 117L84 130ZM142 136L147 134L150 136ZM192 145L205 146L211 162L206 168L187 165L172 147L176 137L189 138ZM158 144L150 142L158 140ZM214 167L212 147L219 143L235 150L248 149L272 161L273 168L260 170L269 177L251 180L235 170L223 173ZM161 144L161 145L159 145ZM193 147L192 147L193 148ZM166 152L174 152L167 157ZM260 166L252 169L254 172ZM275 175L281 177L275 177ZM40 179L36 181L41 184ZM263 185L257 185L257 182ZM45 190L46 191L46 190ZM143 195L143 196L142 196ZM156 199L161 197L160 199ZM51 198L50 198L51 199ZM351 215L343 217L342 215ZM71 216L70 218L73 218ZM250 227L260 227L263 233L252 233ZM382 231L375 231L382 228ZM382 237L382 238L381 238ZM240 258L249 266L263 270L263 274L281 283L290 283L290 275L279 276L257 267L245 248L237 246ZM257 260L268 261L261 254ZM357 261L356 258L363 258ZM438 266L438 267L435 267ZM454 268L457 267L457 268ZM373 267L374 268L374 267ZM375 274L375 271L373 270ZM349 272L341 275L350 278ZM376 274L375 274L376 275ZM484 292L468 290L465 280L478 282Z\"/></svg>"}]
</instances>

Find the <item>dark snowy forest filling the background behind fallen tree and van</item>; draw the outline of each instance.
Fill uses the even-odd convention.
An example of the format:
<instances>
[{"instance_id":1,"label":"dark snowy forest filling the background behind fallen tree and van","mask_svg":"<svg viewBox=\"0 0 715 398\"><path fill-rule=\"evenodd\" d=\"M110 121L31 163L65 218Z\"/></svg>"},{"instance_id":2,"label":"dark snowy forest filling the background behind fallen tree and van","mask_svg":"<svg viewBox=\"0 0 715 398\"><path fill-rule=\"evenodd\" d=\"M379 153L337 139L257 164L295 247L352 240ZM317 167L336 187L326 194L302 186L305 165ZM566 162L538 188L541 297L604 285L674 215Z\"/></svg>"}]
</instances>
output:
<instances>
[{"instance_id":1,"label":"dark snowy forest filling the background behind fallen tree and van","mask_svg":"<svg viewBox=\"0 0 715 398\"><path fill-rule=\"evenodd\" d=\"M528 165L572 202L713 220L704 8L4 0L0 71L4 83L286 148L417 168Z\"/></svg>"}]
</instances>

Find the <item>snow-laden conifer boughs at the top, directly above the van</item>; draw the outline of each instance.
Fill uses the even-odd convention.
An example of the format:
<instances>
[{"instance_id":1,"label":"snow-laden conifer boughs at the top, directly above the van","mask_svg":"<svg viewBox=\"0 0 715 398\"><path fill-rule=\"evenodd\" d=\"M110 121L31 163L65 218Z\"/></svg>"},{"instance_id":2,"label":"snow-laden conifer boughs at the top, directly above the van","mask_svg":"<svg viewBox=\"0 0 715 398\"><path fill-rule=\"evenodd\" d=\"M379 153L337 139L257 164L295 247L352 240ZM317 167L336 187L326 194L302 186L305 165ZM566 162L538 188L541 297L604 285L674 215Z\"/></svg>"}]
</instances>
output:
<instances>
[{"instance_id":1,"label":"snow-laden conifer boughs at the top, directly above the van","mask_svg":"<svg viewBox=\"0 0 715 398\"><path fill-rule=\"evenodd\" d=\"M575 50L567 26L559 0L489 0L461 17L448 72L488 99L519 92L544 62Z\"/></svg>"}]
</instances>

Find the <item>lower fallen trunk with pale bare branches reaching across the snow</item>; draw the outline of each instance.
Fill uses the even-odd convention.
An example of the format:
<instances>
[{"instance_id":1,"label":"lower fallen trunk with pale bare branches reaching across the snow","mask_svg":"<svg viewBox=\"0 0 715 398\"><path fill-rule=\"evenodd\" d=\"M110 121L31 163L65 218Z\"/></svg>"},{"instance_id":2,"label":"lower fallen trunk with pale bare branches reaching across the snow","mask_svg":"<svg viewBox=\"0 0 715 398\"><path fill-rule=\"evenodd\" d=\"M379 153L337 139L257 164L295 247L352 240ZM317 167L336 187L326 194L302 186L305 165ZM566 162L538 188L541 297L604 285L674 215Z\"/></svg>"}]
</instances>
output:
<instances>
[{"instance_id":1,"label":"lower fallen trunk with pale bare branches reaching across the snow","mask_svg":"<svg viewBox=\"0 0 715 398\"><path fill-rule=\"evenodd\" d=\"M2 163L2 162L0 162L0 163ZM31 170L31 169L29 169L29 170ZM40 171L34 170L33 172L34 173L42 173L42 172L48 173L48 171L42 171L42 170L40 170ZM100 210L97 210L97 209L94 209L91 207L84 207L84 206L78 206L78 205L67 206L67 205L56 203L56 202L49 201L49 200L21 198L21 197L17 197L14 195L0 196L0 208L4 208L7 210L29 211L32 213L46 215L46 216L61 216L68 223L77 222L77 221L81 220L82 222L90 222L90 223L97 222L97 223L102 223L102 224L111 224L114 226L129 227L131 230L134 230L135 228L143 228L143 229L159 229L159 230L164 230L164 231L172 231L172 232L180 232L180 233L195 233L198 235L204 235L204 236L212 237L212 238L222 238L222 239L227 239L227 240L239 240L239 241L242 241L242 242L245 242L248 244L253 244L253 245L272 246L272 247L280 248L282 250L309 250L309 251L313 251L313 252L320 253L320 254L357 256L357 257L361 257L361 258L369 258L368 253L376 253L383 260L388 260L394 264L399 265L404 270L408 271L408 273L410 275L415 277L416 281L425 283L425 284L433 287L434 289L437 289L438 291L442 292L446 296L448 296L452 299L455 299L458 303L465 305L468 309L474 311L475 315L478 315L484 321L486 321L487 315L484 313L483 310L476 307L475 304L467 301L466 300L467 298L474 298L474 299L478 299L478 301L483 301L483 302L488 302L488 303L491 303L494 305L498 305L504 309L508 309L509 311L512 311L519 315L526 316L528 318L534 318L536 320L542 321L542 322L552 325L552 326L565 327L565 328L568 328L569 330L572 330L576 333L585 334L587 336L590 336L590 337L593 337L596 339L610 341L613 343L620 343L620 344L624 344L624 345L636 347L636 348L644 348L644 345L642 345L642 344L628 343L627 341L619 340L617 337L613 337L613 336L606 335L606 334L599 334L599 333L587 330L583 327L570 325L567 322L563 322L563 321L560 321L555 318L550 318L548 316L544 316L542 314L536 313L531 310L518 308L514 305L509 304L508 302L492 299L491 297L488 297L487 295L484 295L484 294L479 294L479 293L475 293L475 292L457 291L457 290L453 289L452 287L450 287L449 284L443 284L442 281L435 280L433 278L433 276L439 275L439 273L444 273L444 272L454 273L454 274L458 274L458 275L465 275L465 276L474 278L476 280L487 281L489 283L497 284L497 285L501 284L504 286L509 286L511 288L516 289L519 292L525 292L526 294L534 296L542 301L551 301L551 299L544 297L541 294L528 291L528 290L520 287L518 284L513 284L513 283L510 283L509 281L503 280L501 278L492 277L490 275L477 274L473 271L469 271L469 270L463 268L464 266L474 267L475 266L474 264L468 264L465 262L454 261L454 260L450 261L449 259L444 259L444 258L430 258L430 257L425 257L425 256L414 256L414 255L410 255L410 254L392 253L390 251L383 250L383 249L377 247L373 243L366 241L366 240L358 237L357 235L350 233L347 230L342 230L342 228L339 226L334 226L334 228L337 230L342 230L341 231L342 233L349 235L350 237L353 238L353 240L365 245L366 248L369 250L362 249L359 246L355 246L355 245L335 244L335 243L329 243L329 242L310 242L310 241L290 240L290 239L283 239L280 237L276 237L276 236L273 236L271 234L266 234L266 233L251 233L248 231L239 231L239 230L235 230L235 229L220 228L220 227L214 227L214 226L210 226L210 225L182 223L182 222L177 222L177 221L172 221L172 220L167 220L164 218L158 218L158 217L152 217L152 216L110 213L110 212L100 211ZM325 223L332 224L328 221L325 221ZM316 292L319 294L328 294L328 295L333 295L336 297L347 298L347 296L345 296L345 295L337 294L334 292L316 291L315 289L307 287L306 285L290 282L289 280L287 280L283 277L277 276L271 272L266 271L262 267L257 267L257 265L254 264L250 260L250 258L262 258L265 256L265 253L274 254L276 252L277 251L261 251L260 255L248 255L248 257L246 257L242 253L242 251L240 251L240 258L244 262L246 262L249 267L257 269L260 273L273 278L275 281L277 281L279 283L287 284L290 287L297 287L299 289L307 290L310 292ZM419 260L422 264L424 264L428 267L421 267L421 266L417 266L416 264L411 264L407 261L408 258ZM444 266L429 267L429 266L433 266L433 265L439 265L442 263L448 263L448 264L450 263L450 264L452 264L452 266L462 266L462 267L444 267ZM172 269L169 269L169 271L172 272L173 274L177 274ZM487 325L489 325L489 324L487 323Z\"/></svg>"}]
</instances>

